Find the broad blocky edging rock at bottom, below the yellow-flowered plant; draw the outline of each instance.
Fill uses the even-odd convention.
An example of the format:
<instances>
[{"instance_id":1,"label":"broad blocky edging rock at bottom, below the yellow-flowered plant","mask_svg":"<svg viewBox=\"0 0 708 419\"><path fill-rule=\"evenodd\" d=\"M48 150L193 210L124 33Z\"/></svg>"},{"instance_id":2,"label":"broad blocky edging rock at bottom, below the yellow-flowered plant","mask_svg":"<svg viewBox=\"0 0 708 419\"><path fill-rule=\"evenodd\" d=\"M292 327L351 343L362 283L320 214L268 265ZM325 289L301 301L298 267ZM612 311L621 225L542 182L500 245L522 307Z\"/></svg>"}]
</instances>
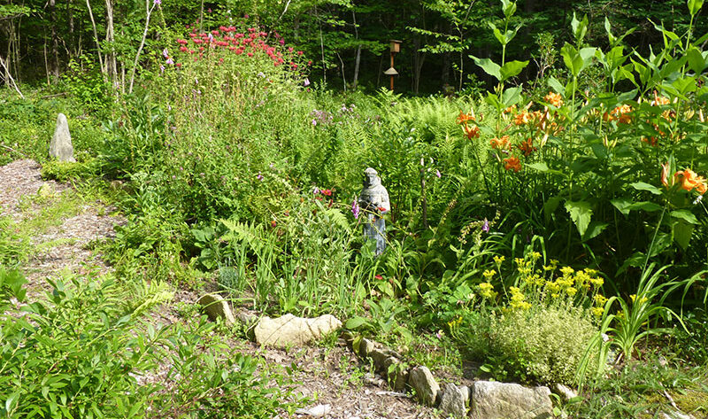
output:
<instances>
[{"instance_id":1,"label":"broad blocky edging rock at bottom, below the yellow-flowered plant","mask_svg":"<svg viewBox=\"0 0 708 419\"><path fill-rule=\"evenodd\" d=\"M542 419L553 417L550 390L541 386L478 381L472 386L472 419Z\"/></svg>"}]
</instances>

